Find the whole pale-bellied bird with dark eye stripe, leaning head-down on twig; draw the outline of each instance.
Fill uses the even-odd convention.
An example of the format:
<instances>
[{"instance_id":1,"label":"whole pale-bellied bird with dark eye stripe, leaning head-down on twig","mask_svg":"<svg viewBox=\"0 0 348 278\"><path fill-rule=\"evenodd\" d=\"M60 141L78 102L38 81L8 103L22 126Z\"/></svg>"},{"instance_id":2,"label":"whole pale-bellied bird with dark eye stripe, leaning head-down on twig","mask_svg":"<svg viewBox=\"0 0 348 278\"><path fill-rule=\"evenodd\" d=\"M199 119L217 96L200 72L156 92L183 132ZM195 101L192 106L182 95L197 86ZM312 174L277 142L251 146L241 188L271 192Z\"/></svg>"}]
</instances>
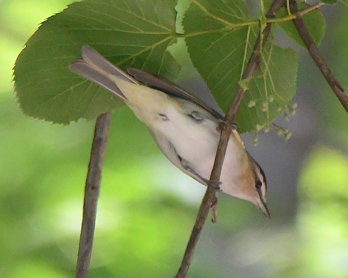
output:
<instances>
[{"instance_id":1,"label":"whole pale-bellied bird with dark eye stripe, leaning head-down on twig","mask_svg":"<svg viewBox=\"0 0 348 278\"><path fill-rule=\"evenodd\" d=\"M121 98L147 125L169 161L203 185L209 183L223 115L161 77L135 68L128 68L128 74L121 71L89 46L82 47L82 59L69 68ZM254 203L270 217L266 177L235 129L227 145L220 190Z\"/></svg>"}]
</instances>

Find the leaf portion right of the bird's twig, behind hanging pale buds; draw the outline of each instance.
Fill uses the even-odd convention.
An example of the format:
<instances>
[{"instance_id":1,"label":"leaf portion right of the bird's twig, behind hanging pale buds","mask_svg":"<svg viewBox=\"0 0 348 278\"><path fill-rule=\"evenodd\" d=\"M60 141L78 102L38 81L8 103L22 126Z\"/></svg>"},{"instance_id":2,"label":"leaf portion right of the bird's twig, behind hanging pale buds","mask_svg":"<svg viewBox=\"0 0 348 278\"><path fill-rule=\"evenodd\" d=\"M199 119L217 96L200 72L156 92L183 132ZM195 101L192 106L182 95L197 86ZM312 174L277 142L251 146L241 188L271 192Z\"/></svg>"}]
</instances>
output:
<instances>
[{"instance_id":1,"label":"leaf portion right of the bird's twig, behind hanging pale buds","mask_svg":"<svg viewBox=\"0 0 348 278\"><path fill-rule=\"evenodd\" d=\"M237 117L237 120L252 122L252 129L256 125L268 126L285 112L296 92L298 63L295 51L275 44L263 51L260 72L249 83L241 105L244 114Z\"/></svg>"}]
</instances>

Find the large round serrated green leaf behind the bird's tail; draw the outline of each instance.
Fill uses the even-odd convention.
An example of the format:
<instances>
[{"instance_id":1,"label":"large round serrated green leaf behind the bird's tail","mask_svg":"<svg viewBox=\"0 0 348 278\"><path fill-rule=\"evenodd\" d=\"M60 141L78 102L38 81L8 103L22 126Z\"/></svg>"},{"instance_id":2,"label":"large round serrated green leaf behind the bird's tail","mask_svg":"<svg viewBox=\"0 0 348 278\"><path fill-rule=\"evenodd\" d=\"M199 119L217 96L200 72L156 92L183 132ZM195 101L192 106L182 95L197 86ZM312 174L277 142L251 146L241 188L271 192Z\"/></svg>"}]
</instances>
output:
<instances>
[{"instance_id":1,"label":"large round serrated green leaf behind the bird's tail","mask_svg":"<svg viewBox=\"0 0 348 278\"><path fill-rule=\"evenodd\" d=\"M175 42L175 0L87 0L43 22L19 54L14 72L26 115L69 124L91 120L122 102L69 71L88 44L114 65L161 76L179 72L167 47Z\"/></svg>"}]
</instances>

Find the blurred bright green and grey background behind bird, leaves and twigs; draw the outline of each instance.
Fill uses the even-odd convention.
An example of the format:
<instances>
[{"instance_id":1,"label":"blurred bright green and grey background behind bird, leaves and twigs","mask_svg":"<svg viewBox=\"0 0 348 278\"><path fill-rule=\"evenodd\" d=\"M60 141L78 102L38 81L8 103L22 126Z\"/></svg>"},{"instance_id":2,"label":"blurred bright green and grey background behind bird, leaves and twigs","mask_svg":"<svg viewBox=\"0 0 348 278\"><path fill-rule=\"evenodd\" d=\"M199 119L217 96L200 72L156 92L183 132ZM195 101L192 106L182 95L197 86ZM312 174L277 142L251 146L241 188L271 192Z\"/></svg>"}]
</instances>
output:
<instances>
[{"instance_id":1,"label":"blurred bright green and grey background behind bird, leaves and twigs","mask_svg":"<svg viewBox=\"0 0 348 278\"><path fill-rule=\"evenodd\" d=\"M93 122L27 118L12 67L24 43L66 0L0 0L0 277L73 277ZM321 45L348 88L347 9L323 10ZM245 134L268 181L268 221L254 205L218 194L189 277L348 277L348 116L307 53L299 55L289 141ZM187 87L195 81L182 80ZM173 277L205 188L159 152L128 108L113 113L98 205L91 278Z\"/></svg>"}]
</instances>

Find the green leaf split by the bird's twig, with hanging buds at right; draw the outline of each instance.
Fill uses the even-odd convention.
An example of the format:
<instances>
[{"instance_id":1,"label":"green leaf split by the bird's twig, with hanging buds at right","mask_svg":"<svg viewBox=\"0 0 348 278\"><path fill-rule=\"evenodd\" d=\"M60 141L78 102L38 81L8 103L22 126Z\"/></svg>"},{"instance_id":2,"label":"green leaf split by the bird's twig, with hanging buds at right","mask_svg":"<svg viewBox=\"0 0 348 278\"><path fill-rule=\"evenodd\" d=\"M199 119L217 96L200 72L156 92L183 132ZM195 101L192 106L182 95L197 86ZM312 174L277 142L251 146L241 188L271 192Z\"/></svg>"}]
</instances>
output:
<instances>
[{"instance_id":1,"label":"green leaf split by the bird's twig, with hanging buds at right","mask_svg":"<svg viewBox=\"0 0 348 278\"><path fill-rule=\"evenodd\" d=\"M192 0L185 13L185 41L193 65L224 112L238 83L244 84L240 80L260 32L258 25L258 21L249 21L242 0ZM244 84L248 90L237 115L239 132L269 125L286 110L295 94L295 52L271 43L262 51L261 72Z\"/></svg>"}]
</instances>

